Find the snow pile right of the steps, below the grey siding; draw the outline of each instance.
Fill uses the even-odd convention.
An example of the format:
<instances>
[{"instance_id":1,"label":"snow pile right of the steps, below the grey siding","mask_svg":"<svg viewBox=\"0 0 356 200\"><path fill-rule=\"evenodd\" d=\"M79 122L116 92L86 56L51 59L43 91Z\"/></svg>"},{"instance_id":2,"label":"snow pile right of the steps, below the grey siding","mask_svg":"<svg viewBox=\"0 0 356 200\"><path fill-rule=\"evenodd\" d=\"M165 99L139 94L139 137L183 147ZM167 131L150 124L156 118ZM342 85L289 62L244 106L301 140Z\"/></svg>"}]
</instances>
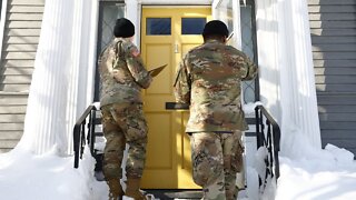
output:
<instances>
[{"instance_id":1,"label":"snow pile right of the steps, below the grey siding","mask_svg":"<svg viewBox=\"0 0 356 200\"><path fill-rule=\"evenodd\" d=\"M276 200L356 199L354 154L332 144L325 150L314 149L312 154L294 160L280 158Z\"/></svg>"}]
</instances>

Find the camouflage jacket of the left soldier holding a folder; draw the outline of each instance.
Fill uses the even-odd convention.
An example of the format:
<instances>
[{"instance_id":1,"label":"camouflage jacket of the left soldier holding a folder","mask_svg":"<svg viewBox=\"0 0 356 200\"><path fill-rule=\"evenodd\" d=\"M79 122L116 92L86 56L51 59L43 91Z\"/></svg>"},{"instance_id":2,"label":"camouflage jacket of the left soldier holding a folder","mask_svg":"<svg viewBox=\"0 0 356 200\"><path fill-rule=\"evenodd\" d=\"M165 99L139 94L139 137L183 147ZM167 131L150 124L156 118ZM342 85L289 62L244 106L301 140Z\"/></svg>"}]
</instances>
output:
<instances>
[{"instance_id":1,"label":"camouflage jacket of the left soldier holding a folder","mask_svg":"<svg viewBox=\"0 0 356 200\"><path fill-rule=\"evenodd\" d=\"M98 67L101 107L142 102L140 91L150 86L152 78L145 69L137 47L129 39L113 39L101 52Z\"/></svg>"}]
</instances>

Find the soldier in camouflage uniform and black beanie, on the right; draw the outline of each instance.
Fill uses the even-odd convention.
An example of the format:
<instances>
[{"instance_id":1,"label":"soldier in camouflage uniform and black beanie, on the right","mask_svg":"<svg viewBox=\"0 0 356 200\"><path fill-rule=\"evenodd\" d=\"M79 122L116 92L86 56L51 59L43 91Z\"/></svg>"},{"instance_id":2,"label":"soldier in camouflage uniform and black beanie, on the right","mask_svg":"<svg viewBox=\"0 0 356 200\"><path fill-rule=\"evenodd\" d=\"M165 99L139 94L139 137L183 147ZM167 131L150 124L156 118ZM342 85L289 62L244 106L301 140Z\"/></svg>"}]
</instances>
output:
<instances>
[{"instance_id":1,"label":"soldier in camouflage uniform and black beanie, on the right","mask_svg":"<svg viewBox=\"0 0 356 200\"><path fill-rule=\"evenodd\" d=\"M226 46L224 22L208 22L204 44L190 50L175 82L176 100L190 104L186 132L190 136L192 178L204 199L236 199L236 173L243 168L241 80L256 77L256 66L245 53Z\"/></svg>"}]
</instances>

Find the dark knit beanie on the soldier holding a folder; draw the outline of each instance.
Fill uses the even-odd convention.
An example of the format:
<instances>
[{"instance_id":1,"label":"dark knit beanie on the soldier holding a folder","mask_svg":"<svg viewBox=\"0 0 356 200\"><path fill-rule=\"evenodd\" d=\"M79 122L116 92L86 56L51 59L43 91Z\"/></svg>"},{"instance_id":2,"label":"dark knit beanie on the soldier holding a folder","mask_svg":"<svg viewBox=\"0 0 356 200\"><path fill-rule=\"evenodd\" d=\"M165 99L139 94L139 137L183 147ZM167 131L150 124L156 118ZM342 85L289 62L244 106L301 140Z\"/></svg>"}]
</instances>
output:
<instances>
[{"instance_id":1,"label":"dark knit beanie on the soldier holding a folder","mask_svg":"<svg viewBox=\"0 0 356 200\"><path fill-rule=\"evenodd\" d=\"M113 36L117 38L130 38L135 34L135 26L134 23L126 19L119 18L116 20L113 27Z\"/></svg>"}]
</instances>

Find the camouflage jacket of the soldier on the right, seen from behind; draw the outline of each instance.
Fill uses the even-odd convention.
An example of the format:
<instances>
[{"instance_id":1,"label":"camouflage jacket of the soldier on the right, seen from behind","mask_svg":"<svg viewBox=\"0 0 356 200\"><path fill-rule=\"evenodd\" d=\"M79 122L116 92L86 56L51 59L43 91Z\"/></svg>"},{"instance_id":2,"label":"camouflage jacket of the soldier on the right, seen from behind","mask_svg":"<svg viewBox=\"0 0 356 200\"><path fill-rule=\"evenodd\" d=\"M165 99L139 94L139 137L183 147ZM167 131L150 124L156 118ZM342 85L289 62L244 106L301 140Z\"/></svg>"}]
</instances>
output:
<instances>
[{"instance_id":1,"label":"camouflage jacket of the soldier on the right, seen from behind","mask_svg":"<svg viewBox=\"0 0 356 200\"><path fill-rule=\"evenodd\" d=\"M246 130L240 82L256 66L234 47L209 40L190 50L177 71L176 101L190 104L186 132Z\"/></svg>"}]
</instances>

